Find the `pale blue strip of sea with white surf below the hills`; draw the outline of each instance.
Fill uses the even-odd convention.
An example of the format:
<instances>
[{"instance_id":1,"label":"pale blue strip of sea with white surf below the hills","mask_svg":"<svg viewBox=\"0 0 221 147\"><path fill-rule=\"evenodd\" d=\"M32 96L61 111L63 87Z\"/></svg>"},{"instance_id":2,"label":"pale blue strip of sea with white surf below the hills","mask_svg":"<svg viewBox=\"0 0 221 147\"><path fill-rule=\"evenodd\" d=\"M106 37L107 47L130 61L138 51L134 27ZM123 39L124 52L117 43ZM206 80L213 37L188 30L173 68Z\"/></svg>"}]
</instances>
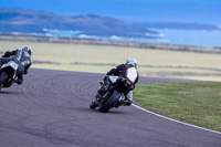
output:
<instances>
[{"instance_id":1,"label":"pale blue strip of sea with white surf below the hills","mask_svg":"<svg viewBox=\"0 0 221 147\"><path fill-rule=\"evenodd\" d=\"M141 42L141 43L159 43L159 44L183 44L203 48L219 48L221 49L221 30L172 30L172 29L151 29L159 34L152 35L146 33L146 36L155 36L157 39L148 38L122 38L117 35L98 36L83 34L81 31L74 30L59 30L44 29L45 33L31 33L30 35L44 35L55 38L77 38L77 39L95 39L105 41L124 41L124 42ZM19 34L13 32L13 34Z\"/></svg>"}]
</instances>

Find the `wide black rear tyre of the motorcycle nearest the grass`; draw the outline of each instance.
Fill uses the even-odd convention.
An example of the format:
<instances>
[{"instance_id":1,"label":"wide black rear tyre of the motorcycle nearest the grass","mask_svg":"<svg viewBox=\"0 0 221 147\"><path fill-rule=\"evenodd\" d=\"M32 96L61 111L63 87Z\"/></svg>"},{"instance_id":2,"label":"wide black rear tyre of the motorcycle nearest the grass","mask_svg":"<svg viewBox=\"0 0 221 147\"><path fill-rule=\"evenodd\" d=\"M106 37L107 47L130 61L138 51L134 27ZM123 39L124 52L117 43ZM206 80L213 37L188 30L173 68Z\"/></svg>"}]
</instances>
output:
<instances>
[{"instance_id":1,"label":"wide black rear tyre of the motorcycle nearest the grass","mask_svg":"<svg viewBox=\"0 0 221 147\"><path fill-rule=\"evenodd\" d=\"M99 112L107 113L110 108L115 106L119 97L120 97L120 93L117 91L114 91L112 96L103 105L99 106Z\"/></svg>"}]
</instances>

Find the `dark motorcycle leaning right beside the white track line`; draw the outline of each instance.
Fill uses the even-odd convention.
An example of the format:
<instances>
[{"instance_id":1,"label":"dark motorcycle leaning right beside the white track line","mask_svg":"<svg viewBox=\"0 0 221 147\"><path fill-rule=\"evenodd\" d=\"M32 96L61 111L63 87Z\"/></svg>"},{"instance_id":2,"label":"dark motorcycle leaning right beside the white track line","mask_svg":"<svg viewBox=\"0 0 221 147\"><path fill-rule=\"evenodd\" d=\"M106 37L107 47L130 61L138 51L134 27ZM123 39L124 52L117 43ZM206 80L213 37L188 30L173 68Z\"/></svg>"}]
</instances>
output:
<instances>
[{"instance_id":1,"label":"dark motorcycle leaning right beside the white track line","mask_svg":"<svg viewBox=\"0 0 221 147\"><path fill-rule=\"evenodd\" d=\"M118 76L109 76L110 87L105 94L101 94L98 91L103 86L103 82L101 82L101 86L97 91L96 98L92 101L90 107L91 109L99 108L99 112L107 113L110 108L118 108L122 105L125 105L126 96L124 93L117 91L116 81Z\"/></svg>"}]
</instances>

